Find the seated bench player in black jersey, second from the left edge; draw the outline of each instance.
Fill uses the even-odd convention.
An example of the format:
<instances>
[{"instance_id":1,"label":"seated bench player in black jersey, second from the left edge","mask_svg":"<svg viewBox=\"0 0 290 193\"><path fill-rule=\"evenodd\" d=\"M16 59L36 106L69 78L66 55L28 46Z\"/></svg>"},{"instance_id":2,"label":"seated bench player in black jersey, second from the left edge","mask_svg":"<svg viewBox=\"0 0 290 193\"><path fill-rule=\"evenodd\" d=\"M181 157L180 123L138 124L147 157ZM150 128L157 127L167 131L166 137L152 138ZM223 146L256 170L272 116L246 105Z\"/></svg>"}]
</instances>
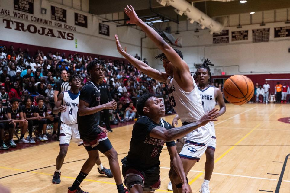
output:
<instances>
[{"instance_id":1,"label":"seated bench player in black jersey, second from the left edge","mask_svg":"<svg viewBox=\"0 0 290 193\"><path fill-rule=\"evenodd\" d=\"M24 135L28 129L28 122L23 117L22 108L19 107L19 102L20 99L11 98L11 107L9 106L6 108L6 113L8 115L8 119L14 122L14 128L21 128L21 136L18 140L18 143L29 143L29 141L24 138Z\"/></svg>"}]
</instances>

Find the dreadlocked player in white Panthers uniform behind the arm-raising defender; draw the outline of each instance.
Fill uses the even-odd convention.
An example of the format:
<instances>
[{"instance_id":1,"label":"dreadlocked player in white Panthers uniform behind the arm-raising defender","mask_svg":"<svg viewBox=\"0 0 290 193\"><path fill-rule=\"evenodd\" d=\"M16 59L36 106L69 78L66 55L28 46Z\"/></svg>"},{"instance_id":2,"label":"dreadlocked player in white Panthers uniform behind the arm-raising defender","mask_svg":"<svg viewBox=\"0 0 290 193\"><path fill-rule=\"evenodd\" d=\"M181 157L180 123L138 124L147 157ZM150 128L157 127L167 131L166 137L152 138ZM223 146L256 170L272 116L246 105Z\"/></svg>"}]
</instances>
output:
<instances>
[{"instance_id":1,"label":"dreadlocked player in white Panthers uniform behind the arm-raising defender","mask_svg":"<svg viewBox=\"0 0 290 193\"><path fill-rule=\"evenodd\" d=\"M221 116L226 112L226 105L223 99L223 93L219 88L211 86L212 77L209 66L214 66L211 62L207 59L204 63L198 67L197 71L193 75L194 79L198 82L198 89L199 94L201 97L201 102L205 113L208 113L212 109L214 109L216 102L220 107L218 111L218 116ZM180 117L176 115L176 117L172 121L172 126L178 125L177 120ZM212 172L214 170L214 151L216 147L216 135L214 129L214 122L210 122L211 125L211 140L208 144L208 147L205 151L206 162L205 162L205 179L201 188L199 190L200 193L209 193L209 182L211 179Z\"/></svg>"}]
</instances>

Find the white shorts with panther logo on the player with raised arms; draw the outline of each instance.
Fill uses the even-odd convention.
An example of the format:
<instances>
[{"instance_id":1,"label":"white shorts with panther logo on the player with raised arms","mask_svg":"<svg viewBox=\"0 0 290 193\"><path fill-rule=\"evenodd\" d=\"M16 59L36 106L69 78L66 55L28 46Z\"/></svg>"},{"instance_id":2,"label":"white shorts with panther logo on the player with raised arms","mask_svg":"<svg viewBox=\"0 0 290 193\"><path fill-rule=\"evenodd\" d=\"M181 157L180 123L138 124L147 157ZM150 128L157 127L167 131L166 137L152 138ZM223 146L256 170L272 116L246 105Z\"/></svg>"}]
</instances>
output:
<instances>
[{"instance_id":1,"label":"white shorts with panther logo on the player with raised arms","mask_svg":"<svg viewBox=\"0 0 290 193\"><path fill-rule=\"evenodd\" d=\"M186 124L189 123L183 123L183 125ZM211 127L208 123L192 133L187 134L185 137L176 140L176 150L179 153L179 157L196 160L198 162L208 147L211 140L211 133Z\"/></svg>"}]
</instances>

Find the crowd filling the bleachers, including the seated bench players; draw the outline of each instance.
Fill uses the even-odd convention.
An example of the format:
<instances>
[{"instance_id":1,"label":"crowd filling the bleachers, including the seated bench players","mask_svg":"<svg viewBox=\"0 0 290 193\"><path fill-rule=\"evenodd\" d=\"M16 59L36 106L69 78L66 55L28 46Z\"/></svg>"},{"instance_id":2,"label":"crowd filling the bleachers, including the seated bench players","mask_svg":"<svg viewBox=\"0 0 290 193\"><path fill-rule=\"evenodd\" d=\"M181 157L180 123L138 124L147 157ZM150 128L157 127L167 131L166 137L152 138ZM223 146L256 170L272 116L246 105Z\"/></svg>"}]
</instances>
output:
<instances>
[{"instance_id":1,"label":"crowd filling the bleachers, including the seated bench players","mask_svg":"<svg viewBox=\"0 0 290 193\"><path fill-rule=\"evenodd\" d=\"M137 54L135 57L140 59ZM0 123L3 122L0 130L1 133L9 133L6 139L3 134L0 135L0 149L8 149L3 140L9 147L16 146L12 140L14 134L19 135L18 143L56 139L58 116L52 114L55 90L59 90L56 87L62 80L68 81L74 73L81 75L82 85L90 81L85 69L93 59L77 53L66 55L54 51L43 53L41 50L31 55L28 49L0 46ZM104 83L100 84L108 93L104 102L118 102L116 111L103 112L101 116L101 123L106 123L109 131L110 124L135 118L136 98L145 92L164 98L166 113L174 112L166 94L166 84L144 75L125 60L98 59L106 63ZM147 63L145 58L143 61ZM47 133L48 125L53 127L50 135ZM27 130L29 134L25 137Z\"/></svg>"}]
</instances>

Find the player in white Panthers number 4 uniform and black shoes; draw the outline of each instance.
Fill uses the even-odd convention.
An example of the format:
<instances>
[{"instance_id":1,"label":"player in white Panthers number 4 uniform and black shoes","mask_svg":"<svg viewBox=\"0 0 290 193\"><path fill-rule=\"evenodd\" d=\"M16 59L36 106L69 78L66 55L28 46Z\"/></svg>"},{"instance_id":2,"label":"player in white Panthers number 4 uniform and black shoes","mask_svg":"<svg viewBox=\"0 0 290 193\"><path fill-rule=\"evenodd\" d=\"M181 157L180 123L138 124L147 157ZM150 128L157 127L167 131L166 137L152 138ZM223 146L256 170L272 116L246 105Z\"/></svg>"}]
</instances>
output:
<instances>
[{"instance_id":1,"label":"player in white Panthers number 4 uniform and black shoes","mask_svg":"<svg viewBox=\"0 0 290 193\"><path fill-rule=\"evenodd\" d=\"M58 96L55 107L53 108L53 114L61 113L60 120L60 152L56 158L56 171L54 172L52 183L60 183L60 169L63 165L64 158L66 156L70 140L74 140L78 146L83 145L83 140L80 139L78 124L77 124L77 112L79 110L79 87L81 86L81 77L77 74L72 75L69 78L69 84L71 89L61 92ZM103 128L102 130L106 130ZM96 162L98 165L98 171L100 174L105 174L108 177L113 177L111 170L102 166L101 160Z\"/></svg>"}]
</instances>

